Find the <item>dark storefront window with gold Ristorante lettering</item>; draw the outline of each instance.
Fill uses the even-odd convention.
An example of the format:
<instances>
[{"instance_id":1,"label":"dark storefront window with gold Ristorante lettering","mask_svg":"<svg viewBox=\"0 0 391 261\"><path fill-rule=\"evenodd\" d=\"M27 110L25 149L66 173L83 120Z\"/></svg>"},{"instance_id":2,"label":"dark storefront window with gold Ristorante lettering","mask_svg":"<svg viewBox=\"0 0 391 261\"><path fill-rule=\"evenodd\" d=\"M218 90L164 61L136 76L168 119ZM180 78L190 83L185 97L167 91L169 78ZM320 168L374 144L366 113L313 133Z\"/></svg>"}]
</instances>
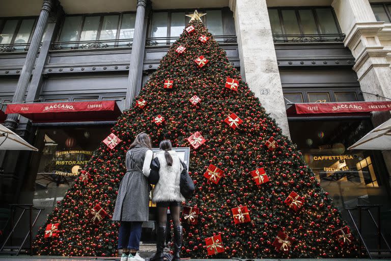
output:
<instances>
[{"instance_id":1,"label":"dark storefront window with gold Ristorante lettering","mask_svg":"<svg viewBox=\"0 0 391 261\"><path fill-rule=\"evenodd\" d=\"M91 158L99 142L110 133L110 125L40 128L35 146L40 159L32 163L36 173L34 205L45 207L45 214L61 200L73 180ZM36 170L36 172L35 172ZM40 216L41 221L45 215Z\"/></svg>"}]
</instances>

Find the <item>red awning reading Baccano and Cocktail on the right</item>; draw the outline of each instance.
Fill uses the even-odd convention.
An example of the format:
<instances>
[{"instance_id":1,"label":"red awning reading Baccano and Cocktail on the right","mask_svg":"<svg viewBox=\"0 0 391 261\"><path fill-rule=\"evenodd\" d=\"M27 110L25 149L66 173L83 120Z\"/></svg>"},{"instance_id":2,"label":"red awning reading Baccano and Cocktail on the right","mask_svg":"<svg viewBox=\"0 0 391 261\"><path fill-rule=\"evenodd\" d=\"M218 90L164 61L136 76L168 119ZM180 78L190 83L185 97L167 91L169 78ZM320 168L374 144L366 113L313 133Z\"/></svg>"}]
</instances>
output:
<instances>
[{"instance_id":1,"label":"red awning reading Baccano and Cocktail on the right","mask_svg":"<svg viewBox=\"0 0 391 261\"><path fill-rule=\"evenodd\" d=\"M365 114L375 111L391 111L391 101L293 103L293 105L287 109L287 114L288 116L302 114L362 115L362 113Z\"/></svg>"}]
</instances>

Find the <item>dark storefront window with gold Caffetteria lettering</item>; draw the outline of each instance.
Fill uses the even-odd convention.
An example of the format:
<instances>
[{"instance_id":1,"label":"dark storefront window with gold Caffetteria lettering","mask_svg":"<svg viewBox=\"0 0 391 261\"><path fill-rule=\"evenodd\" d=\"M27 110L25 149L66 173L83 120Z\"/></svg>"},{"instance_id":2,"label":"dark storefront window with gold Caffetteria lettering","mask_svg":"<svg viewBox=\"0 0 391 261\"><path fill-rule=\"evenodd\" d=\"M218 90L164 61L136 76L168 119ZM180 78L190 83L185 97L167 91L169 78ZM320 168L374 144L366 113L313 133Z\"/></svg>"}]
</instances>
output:
<instances>
[{"instance_id":1,"label":"dark storefront window with gold Caffetteria lettering","mask_svg":"<svg viewBox=\"0 0 391 261\"><path fill-rule=\"evenodd\" d=\"M291 138L339 207L387 200L376 151L347 150L372 129L369 120L290 121ZM380 164L379 164L380 163Z\"/></svg>"}]
</instances>

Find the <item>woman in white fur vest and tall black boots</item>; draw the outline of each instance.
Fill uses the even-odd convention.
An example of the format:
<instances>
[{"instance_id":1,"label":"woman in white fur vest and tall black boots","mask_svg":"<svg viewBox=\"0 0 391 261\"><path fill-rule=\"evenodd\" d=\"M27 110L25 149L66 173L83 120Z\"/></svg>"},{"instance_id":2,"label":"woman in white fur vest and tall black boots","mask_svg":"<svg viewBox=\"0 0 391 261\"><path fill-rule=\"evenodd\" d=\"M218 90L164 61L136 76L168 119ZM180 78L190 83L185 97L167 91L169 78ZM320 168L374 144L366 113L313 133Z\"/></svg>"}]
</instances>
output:
<instances>
[{"instance_id":1,"label":"woman in white fur vest and tall black boots","mask_svg":"<svg viewBox=\"0 0 391 261\"><path fill-rule=\"evenodd\" d=\"M180 222L181 206L185 198L180 190L180 177L182 164L176 151L172 150L171 141L160 142L160 151L152 163L152 170L159 171L159 181L155 185L152 202L156 203L158 211L158 227L156 240L156 253L151 261L163 261L163 250L166 234L167 207L170 207L171 217L174 221L174 257L173 261L180 261L182 247L182 226Z\"/></svg>"}]
</instances>

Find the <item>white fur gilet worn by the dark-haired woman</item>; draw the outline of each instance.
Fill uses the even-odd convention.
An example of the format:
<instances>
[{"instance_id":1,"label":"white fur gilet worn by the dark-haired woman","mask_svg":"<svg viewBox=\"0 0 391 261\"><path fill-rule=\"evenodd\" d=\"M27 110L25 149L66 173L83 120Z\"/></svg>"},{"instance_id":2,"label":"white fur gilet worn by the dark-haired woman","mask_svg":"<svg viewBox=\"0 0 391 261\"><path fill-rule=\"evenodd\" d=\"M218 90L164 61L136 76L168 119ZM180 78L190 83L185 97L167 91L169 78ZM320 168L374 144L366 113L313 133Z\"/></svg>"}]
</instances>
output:
<instances>
[{"instance_id":1,"label":"white fur gilet worn by the dark-haired woman","mask_svg":"<svg viewBox=\"0 0 391 261\"><path fill-rule=\"evenodd\" d=\"M159 159L160 169L159 182L157 182L153 191L153 202L185 201L185 198L182 196L179 187L181 171L183 167L179 161L177 152L174 150L169 150L169 153L173 158L173 166L167 165L164 156L164 150L159 151L156 155Z\"/></svg>"}]
</instances>

